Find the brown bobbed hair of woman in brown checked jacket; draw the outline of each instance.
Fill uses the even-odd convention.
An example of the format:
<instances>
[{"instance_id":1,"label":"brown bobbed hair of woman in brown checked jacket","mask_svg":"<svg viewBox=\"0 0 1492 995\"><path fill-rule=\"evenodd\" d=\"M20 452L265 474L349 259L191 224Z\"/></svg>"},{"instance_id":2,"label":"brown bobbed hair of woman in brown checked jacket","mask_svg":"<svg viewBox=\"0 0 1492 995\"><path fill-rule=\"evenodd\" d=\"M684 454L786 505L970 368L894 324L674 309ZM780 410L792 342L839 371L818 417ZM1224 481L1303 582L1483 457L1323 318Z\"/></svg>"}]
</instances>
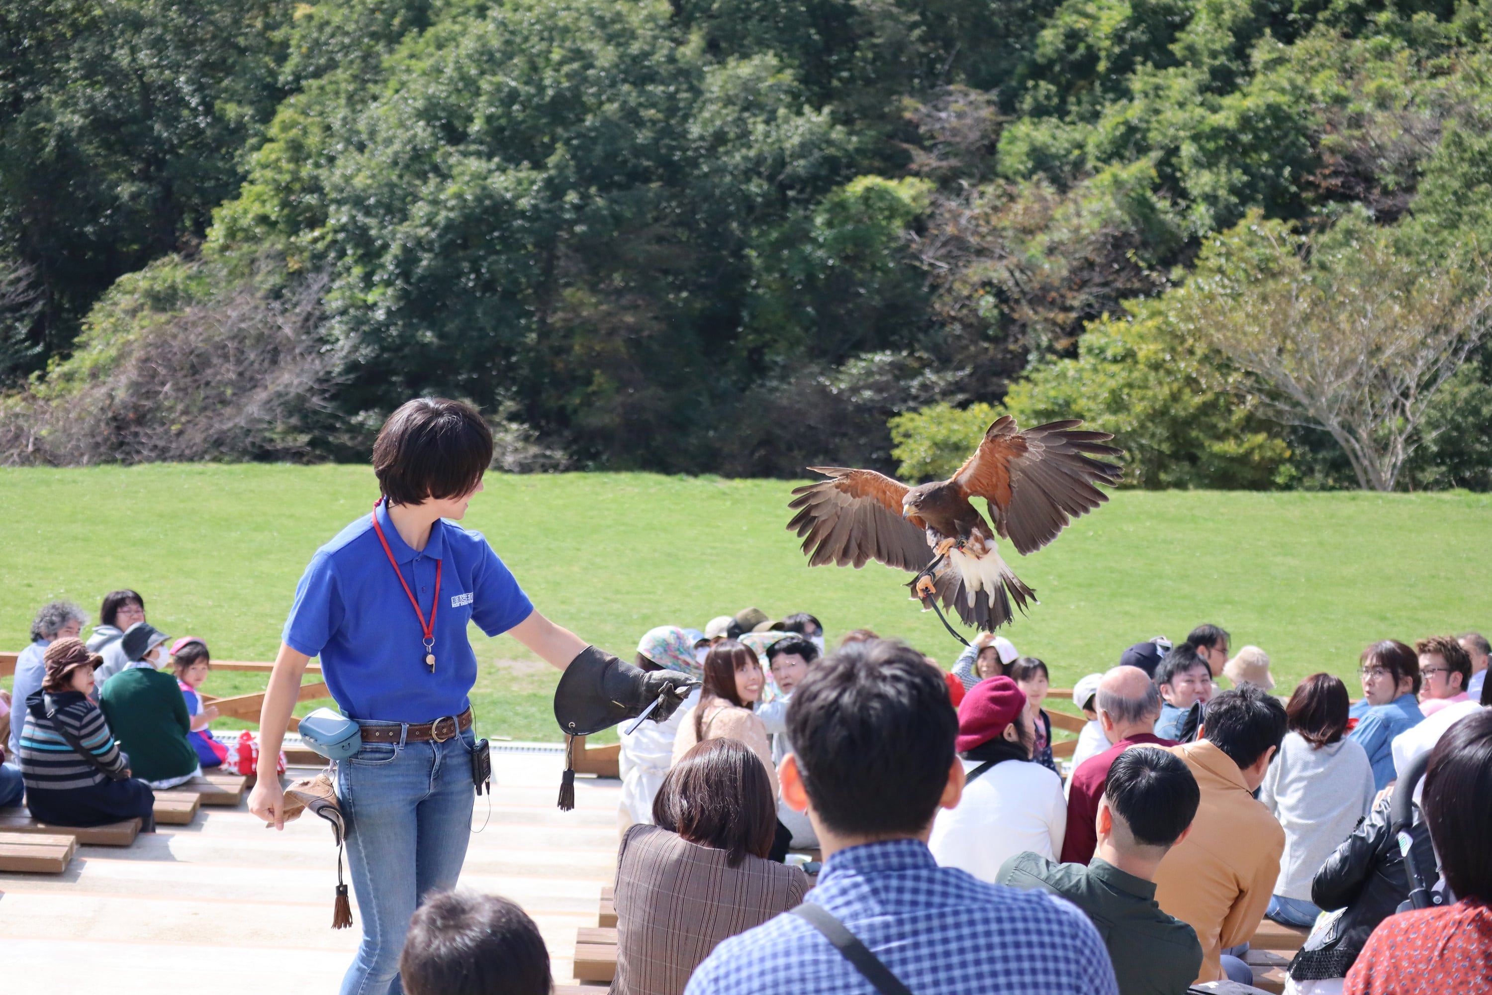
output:
<instances>
[{"instance_id":1,"label":"brown bobbed hair of woman in brown checked jacket","mask_svg":"<svg viewBox=\"0 0 1492 995\"><path fill-rule=\"evenodd\" d=\"M704 740L679 758L653 795L653 822L689 843L725 850L725 864L765 858L777 804L761 759L740 740Z\"/></svg>"}]
</instances>

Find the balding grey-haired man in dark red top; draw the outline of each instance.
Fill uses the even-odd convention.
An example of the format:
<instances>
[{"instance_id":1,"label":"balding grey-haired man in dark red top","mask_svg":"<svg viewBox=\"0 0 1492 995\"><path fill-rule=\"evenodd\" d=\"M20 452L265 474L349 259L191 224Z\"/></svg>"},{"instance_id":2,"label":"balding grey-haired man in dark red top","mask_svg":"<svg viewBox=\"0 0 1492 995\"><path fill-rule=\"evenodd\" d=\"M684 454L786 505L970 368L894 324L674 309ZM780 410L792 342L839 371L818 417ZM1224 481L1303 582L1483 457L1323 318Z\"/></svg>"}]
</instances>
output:
<instances>
[{"instance_id":1,"label":"balding grey-haired man in dark red top","mask_svg":"<svg viewBox=\"0 0 1492 995\"><path fill-rule=\"evenodd\" d=\"M1067 837L1062 840L1064 864L1088 864L1098 846L1098 803L1109 783L1109 768L1131 746L1176 746L1153 734L1161 715L1161 692L1138 667L1115 667L1098 682L1094 698L1104 738L1113 746L1089 758L1073 771L1067 795Z\"/></svg>"}]
</instances>

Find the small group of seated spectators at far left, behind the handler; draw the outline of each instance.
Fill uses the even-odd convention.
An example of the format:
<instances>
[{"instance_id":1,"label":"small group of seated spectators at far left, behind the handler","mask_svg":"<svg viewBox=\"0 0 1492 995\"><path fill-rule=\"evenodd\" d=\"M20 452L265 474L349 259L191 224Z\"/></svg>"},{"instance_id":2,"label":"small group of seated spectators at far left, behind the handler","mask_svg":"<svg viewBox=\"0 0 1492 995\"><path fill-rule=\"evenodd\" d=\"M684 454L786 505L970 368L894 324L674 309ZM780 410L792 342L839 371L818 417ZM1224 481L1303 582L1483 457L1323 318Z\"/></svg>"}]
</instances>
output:
<instances>
[{"instance_id":1,"label":"small group of seated spectators at far left, behind the handler","mask_svg":"<svg viewBox=\"0 0 1492 995\"><path fill-rule=\"evenodd\" d=\"M12 691L0 692L0 807L24 803L58 826L140 819L149 832L155 791L228 755L207 728L218 710L197 691L207 644L170 643L130 589L104 597L87 641L85 622L76 604L52 601L31 624Z\"/></svg>"}]
</instances>

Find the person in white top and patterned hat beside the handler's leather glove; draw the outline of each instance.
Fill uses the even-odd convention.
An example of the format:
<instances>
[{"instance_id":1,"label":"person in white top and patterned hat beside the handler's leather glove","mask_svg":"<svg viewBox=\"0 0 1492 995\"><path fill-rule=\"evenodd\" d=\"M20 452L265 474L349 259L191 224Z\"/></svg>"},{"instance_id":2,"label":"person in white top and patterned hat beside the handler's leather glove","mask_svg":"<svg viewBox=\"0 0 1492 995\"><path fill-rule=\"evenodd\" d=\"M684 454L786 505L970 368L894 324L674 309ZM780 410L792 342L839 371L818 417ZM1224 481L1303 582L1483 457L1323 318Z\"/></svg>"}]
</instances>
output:
<instances>
[{"instance_id":1,"label":"person in white top and patterned hat beside the handler's leather glove","mask_svg":"<svg viewBox=\"0 0 1492 995\"><path fill-rule=\"evenodd\" d=\"M703 673L695 658L694 638L677 625L648 630L637 641L636 662L643 670L673 670L695 680ZM616 817L622 832L637 822L652 823L653 797L673 765L673 740L698 703L700 689L695 688L664 722L643 722L631 734L625 728L618 728L622 740L619 753L622 800Z\"/></svg>"}]
</instances>

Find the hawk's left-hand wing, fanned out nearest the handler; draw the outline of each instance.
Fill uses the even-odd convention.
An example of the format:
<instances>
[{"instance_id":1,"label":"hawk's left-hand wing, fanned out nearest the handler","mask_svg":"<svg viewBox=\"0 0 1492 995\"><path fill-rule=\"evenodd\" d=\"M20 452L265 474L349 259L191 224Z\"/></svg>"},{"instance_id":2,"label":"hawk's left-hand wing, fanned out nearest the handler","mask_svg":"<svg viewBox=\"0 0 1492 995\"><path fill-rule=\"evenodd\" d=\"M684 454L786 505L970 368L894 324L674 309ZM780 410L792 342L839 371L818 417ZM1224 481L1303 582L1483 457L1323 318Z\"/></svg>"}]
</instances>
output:
<instances>
[{"instance_id":1,"label":"hawk's left-hand wing, fanned out nearest the handler","mask_svg":"<svg viewBox=\"0 0 1492 995\"><path fill-rule=\"evenodd\" d=\"M924 522L901 518L906 483L874 470L809 468L830 479L792 491L788 507L798 513L788 531L804 537L810 567L853 564L858 570L867 559L879 559L918 571L932 561Z\"/></svg>"}]
</instances>

